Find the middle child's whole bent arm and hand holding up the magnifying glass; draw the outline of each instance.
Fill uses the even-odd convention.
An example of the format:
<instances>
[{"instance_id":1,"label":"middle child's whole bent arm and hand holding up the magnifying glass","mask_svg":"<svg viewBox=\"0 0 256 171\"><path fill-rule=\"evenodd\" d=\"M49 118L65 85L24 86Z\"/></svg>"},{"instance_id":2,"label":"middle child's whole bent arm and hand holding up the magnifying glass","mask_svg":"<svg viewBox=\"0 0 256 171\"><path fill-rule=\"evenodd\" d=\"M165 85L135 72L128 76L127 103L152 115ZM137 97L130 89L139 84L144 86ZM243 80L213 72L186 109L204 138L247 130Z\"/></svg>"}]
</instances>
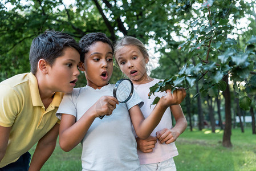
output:
<instances>
[{"instance_id":1,"label":"middle child's whole bent arm and hand holding up the magnifying glass","mask_svg":"<svg viewBox=\"0 0 256 171\"><path fill-rule=\"evenodd\" d=\"M66 152L73 149L83 140L83 137L86 135L95 118L111 115L116 108L116 104L119 104L119 102L115 97L102 96L76 122L75 116L62 114L59 129L60 147Z\"/></svg>"}]
</instances>

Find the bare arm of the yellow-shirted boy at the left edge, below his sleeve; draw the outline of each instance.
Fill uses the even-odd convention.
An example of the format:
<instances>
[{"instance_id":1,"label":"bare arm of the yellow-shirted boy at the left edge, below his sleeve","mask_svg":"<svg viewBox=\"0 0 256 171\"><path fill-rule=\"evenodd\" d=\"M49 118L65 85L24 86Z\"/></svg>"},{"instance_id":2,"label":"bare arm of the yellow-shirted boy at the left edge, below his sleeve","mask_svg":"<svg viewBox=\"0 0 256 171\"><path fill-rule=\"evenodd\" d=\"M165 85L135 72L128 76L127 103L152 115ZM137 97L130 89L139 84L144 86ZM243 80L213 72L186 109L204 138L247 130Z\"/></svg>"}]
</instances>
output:
<instances>
[{"instance_id":1,"label":"bare arm of the yellow-shirted boy at the left edge, below his sleeve","mask_svg":"<svg viewBox=\"0 0 256 171\"><path fill-rule=\"evenodd\" d=\"M0 162L5 156L10 132L11 132L11 127L0 126Z\"/></svg>"}]
</instances>

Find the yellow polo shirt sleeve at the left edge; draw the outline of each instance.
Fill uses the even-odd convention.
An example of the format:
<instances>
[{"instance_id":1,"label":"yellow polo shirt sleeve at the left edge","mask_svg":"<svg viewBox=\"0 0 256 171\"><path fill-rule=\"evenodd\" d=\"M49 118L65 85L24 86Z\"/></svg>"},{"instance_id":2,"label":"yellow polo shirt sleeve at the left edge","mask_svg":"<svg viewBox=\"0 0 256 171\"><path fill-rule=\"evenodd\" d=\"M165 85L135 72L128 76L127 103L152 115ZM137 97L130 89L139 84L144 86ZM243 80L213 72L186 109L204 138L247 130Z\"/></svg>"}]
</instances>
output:
<instances>
[{"instance_id":1,"label":"yellow polo shirt sleeve at the left edge","mask_svg":"<svg viewBox=\"0 0 256 171\"><path fill-rule=\"evenodd\" d=\"M11 127L22 107L22 99L9 86L0 86L0 125Z\"/></svg>"}]
</instances>

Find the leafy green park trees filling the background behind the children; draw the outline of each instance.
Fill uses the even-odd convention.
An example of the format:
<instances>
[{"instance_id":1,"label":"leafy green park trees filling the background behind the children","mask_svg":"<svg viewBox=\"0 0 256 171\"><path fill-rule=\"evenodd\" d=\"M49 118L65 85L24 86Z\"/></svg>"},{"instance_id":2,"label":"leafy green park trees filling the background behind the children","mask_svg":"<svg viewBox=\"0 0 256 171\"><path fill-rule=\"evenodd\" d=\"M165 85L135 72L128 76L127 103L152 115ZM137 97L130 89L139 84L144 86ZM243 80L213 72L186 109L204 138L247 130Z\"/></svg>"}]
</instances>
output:
<instances>
[{"instance_id":1,"label":"leafy green park trees filling the background behind the children","mask_svg":"<svg viewBox=\"0 0 256 171\"><path fill-rule=\"evenodd\" d=\"M135 36L153 51L153 78L189 87L182 109L190 130L223 128L229 147L232 125L249 124L256 134L255 8L255 0L2 0L0 81L30 71L31 41L46 29L77 41L89 32L104 32L114 43ZM110 82L123 77L116 66ZM80 74L77 86L85 80Z\"/></svg>"}]
</instances>

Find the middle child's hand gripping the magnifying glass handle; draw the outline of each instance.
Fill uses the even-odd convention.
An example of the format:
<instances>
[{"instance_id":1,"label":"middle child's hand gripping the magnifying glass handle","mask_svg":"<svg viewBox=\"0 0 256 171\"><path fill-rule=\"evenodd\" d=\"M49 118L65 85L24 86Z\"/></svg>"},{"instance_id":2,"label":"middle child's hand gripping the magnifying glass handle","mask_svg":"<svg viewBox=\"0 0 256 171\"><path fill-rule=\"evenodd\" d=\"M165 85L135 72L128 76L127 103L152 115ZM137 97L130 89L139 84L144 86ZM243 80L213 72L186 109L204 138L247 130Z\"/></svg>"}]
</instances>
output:
<instances>
[{"instance_id":1,"label":"middle child's hand gripping the magnifying glass handle","mask_svg":"<svg viewBox=\"0 0 256 171\"><path fill-rule=\"evenodd\" d=\"M119 104L119 102L113 96L100 97L100 99L94 104L94 109L96 112L95 117L111 115L113 110L116 108L116 104Z\"/></svg>"}]
</instances>

